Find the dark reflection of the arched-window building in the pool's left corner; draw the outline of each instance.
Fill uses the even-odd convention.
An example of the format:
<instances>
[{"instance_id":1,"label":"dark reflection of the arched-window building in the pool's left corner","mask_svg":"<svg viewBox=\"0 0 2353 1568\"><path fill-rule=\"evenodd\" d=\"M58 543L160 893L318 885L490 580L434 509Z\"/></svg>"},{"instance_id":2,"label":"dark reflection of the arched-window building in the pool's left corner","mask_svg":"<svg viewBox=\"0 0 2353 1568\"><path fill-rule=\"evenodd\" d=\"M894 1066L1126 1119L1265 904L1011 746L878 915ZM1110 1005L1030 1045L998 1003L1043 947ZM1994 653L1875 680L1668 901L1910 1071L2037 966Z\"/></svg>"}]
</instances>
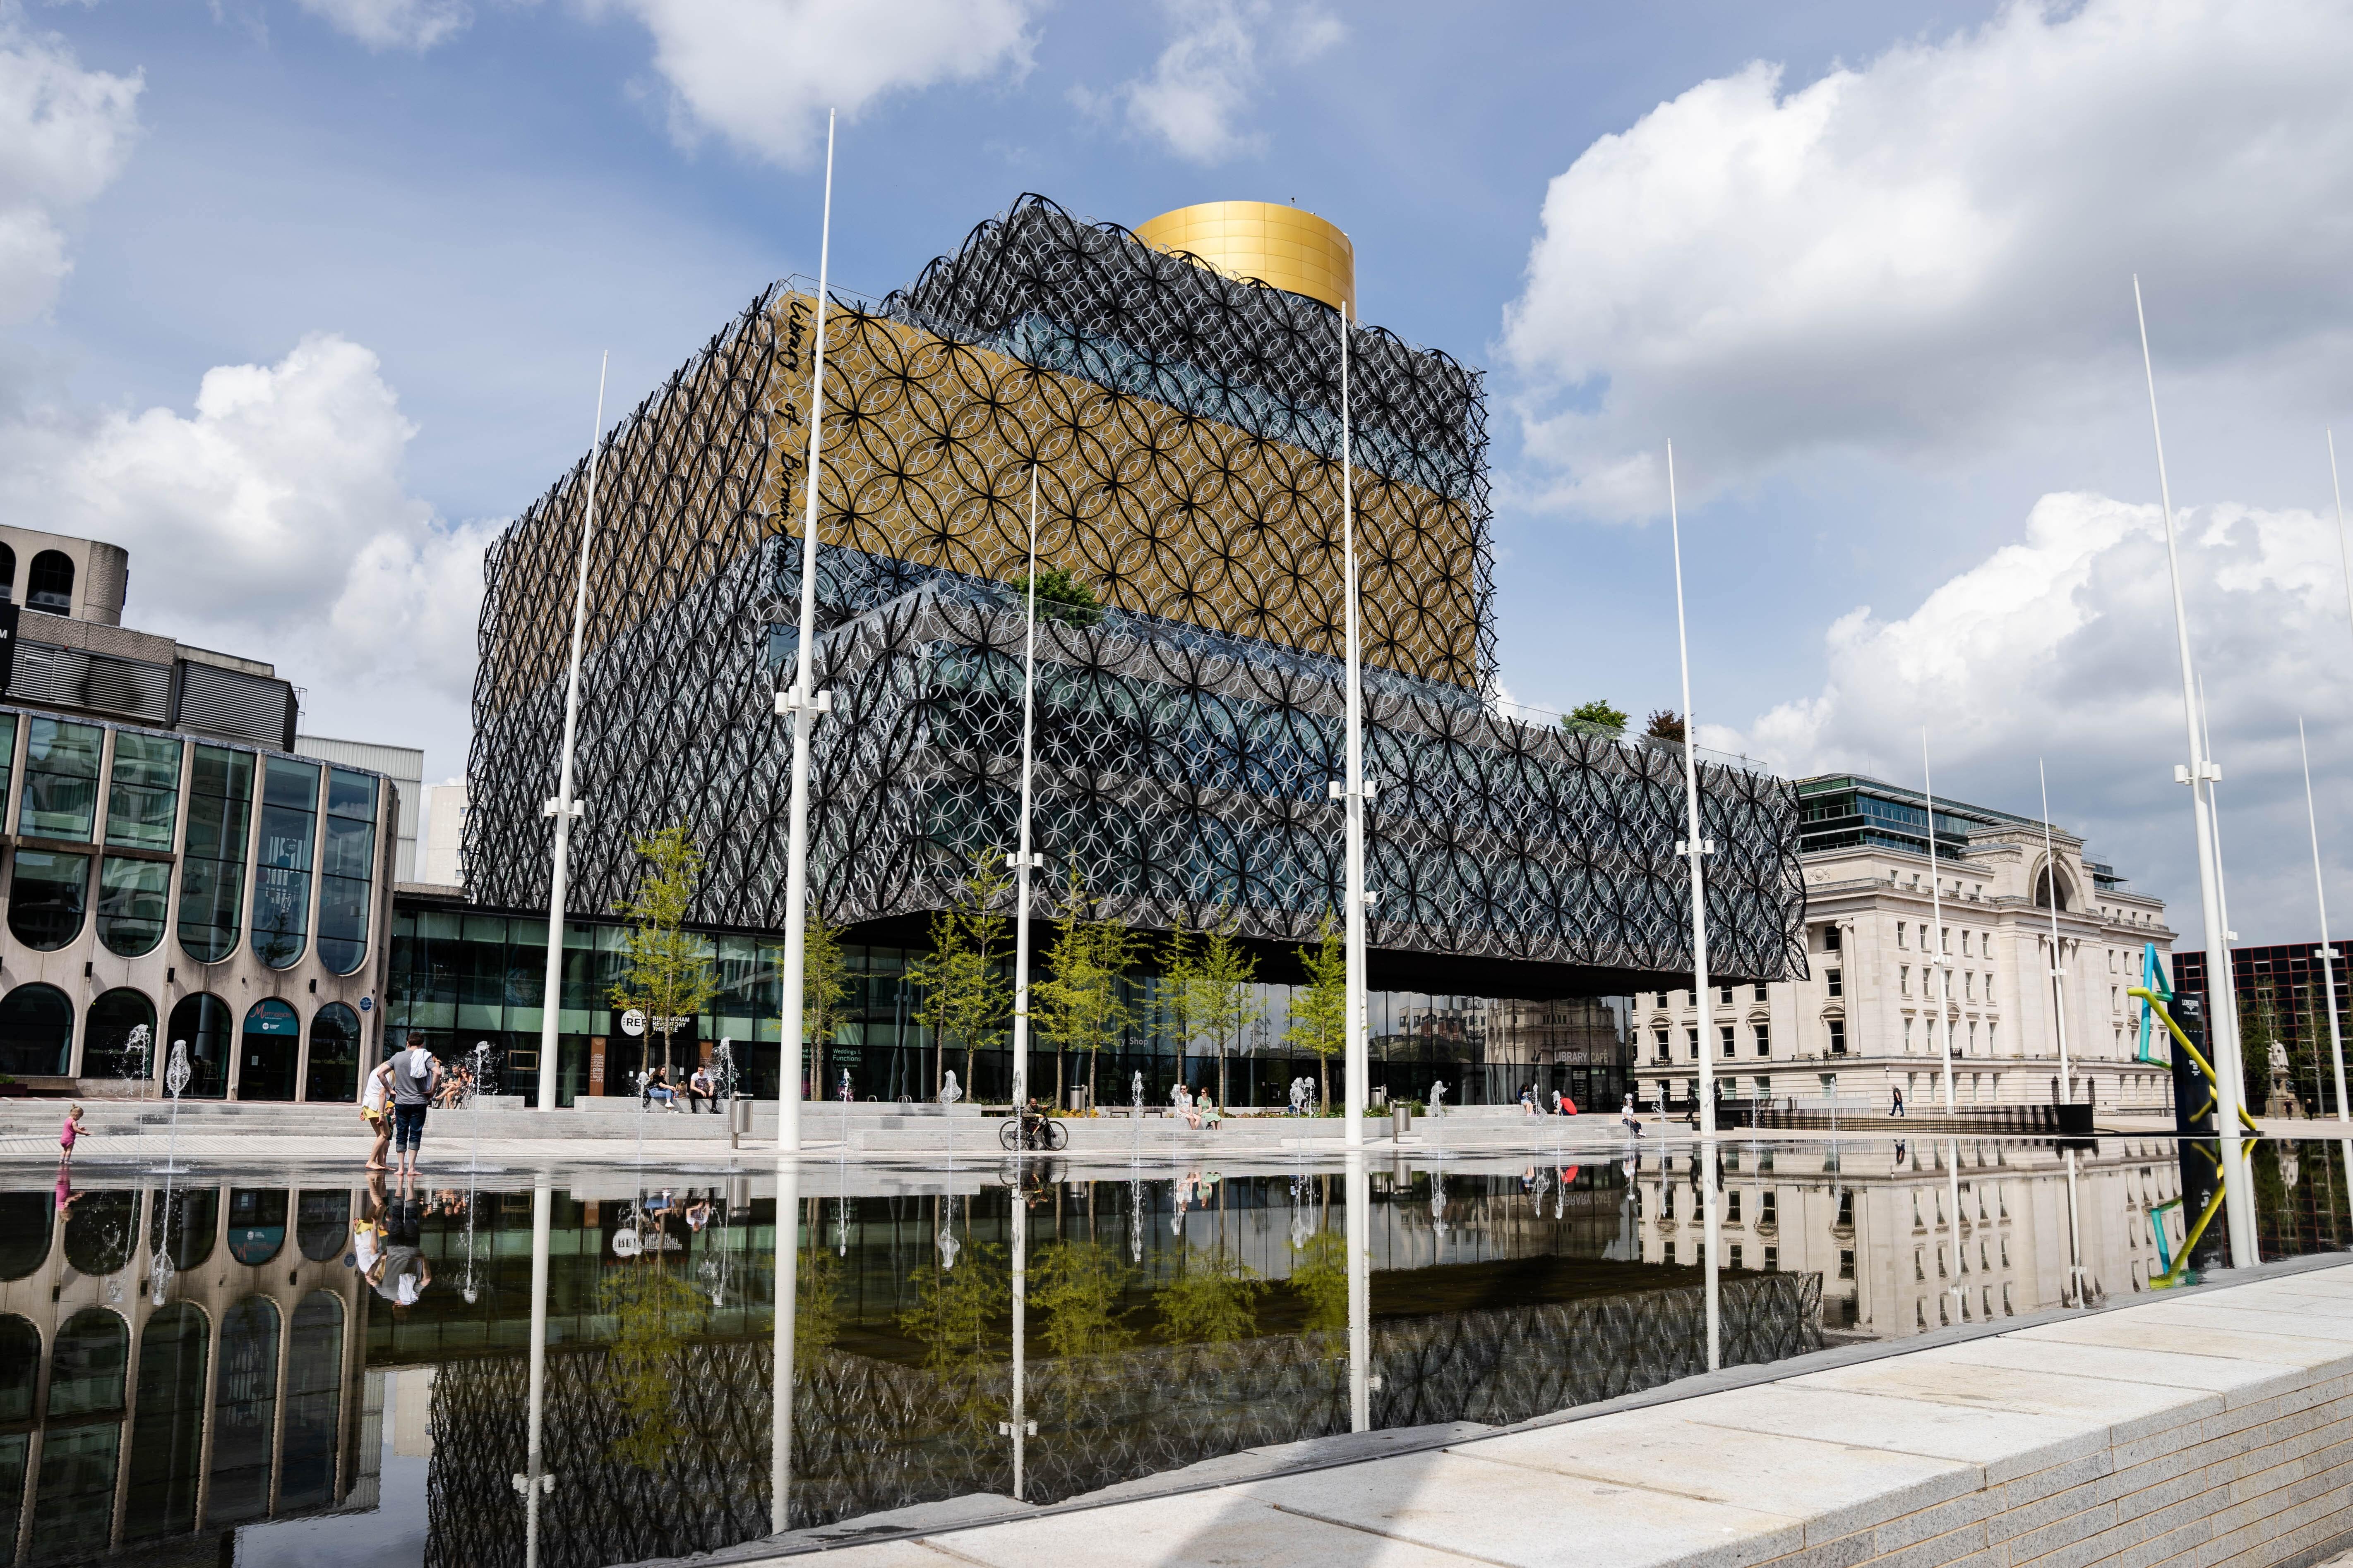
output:
<instances>
[{"instance_id":1,"label":"dark reflection of the arched-window building in the pool's left corner","mask_svg":"<svg viewBox=\"0 0 2353 1568\"><path fill-rule=\"evenodd\" d=\"M344 1190L0 1192L0 1561L374 1507L348 1241Z\"/></svg>"}]
</instances>

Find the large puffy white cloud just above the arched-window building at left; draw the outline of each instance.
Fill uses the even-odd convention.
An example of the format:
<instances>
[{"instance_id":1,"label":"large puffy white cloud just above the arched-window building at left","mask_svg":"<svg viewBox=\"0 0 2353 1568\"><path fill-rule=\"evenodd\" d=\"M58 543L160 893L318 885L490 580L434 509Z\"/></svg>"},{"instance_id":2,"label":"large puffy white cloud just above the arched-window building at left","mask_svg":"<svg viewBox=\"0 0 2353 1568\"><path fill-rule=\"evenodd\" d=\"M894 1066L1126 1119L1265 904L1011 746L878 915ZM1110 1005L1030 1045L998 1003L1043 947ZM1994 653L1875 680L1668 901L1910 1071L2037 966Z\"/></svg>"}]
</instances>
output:
<instances>
[{"instance_id":1,"label":"large puffy white cloud just above the arched-window building at left","mask_svg":"<svg viewBox=\"0 0 2353 1568\"><path fill-rule=\"evenodd\" d=\"M191 411L49 411L0 425L0 503L132 555L125 623L266 658L306 724L464 736L482 550L407 491L416 425L376 355L313 334L205 374ZM341 726L341 729L336 729Z\"/></svg>"}]
</instances>

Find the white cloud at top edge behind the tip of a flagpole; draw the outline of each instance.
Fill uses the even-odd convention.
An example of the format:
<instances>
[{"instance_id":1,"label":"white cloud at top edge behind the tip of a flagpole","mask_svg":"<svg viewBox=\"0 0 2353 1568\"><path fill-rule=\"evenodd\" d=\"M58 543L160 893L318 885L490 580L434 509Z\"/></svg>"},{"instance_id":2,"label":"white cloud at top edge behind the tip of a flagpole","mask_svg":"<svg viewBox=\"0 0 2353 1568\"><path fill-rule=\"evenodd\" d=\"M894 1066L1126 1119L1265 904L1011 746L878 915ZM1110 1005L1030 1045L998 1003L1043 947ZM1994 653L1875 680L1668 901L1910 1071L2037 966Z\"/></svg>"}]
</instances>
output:
<instances>
[{"instance_id":1,"label":"white cloud at top edge behind the tip of a flagpole","mask_svg":"<svg viewBox=\"0 0 2353 1568\"><path fill-rule=\"evenodd\" d=\"M600 0L645 24L671 132L774 162L824 153L826 110L1028 68L1040 0Z\"/></svg>"}]
</instances>

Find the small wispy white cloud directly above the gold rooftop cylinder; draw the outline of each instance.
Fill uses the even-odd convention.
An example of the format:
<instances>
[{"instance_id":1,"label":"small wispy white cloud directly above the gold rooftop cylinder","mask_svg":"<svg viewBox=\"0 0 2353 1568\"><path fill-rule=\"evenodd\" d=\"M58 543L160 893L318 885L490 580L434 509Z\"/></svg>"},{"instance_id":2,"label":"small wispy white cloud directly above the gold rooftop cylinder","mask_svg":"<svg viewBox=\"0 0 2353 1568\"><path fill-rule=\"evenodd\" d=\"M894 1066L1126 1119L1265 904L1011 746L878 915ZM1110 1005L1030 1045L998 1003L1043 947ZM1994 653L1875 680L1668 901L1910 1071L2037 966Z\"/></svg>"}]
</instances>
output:
<instances>
[{"instance_id":1,"label":"small wispy white cloud directly above the gold rooftop cylinder","mask_svg":"<svg viewBox=\"0 0 2353 1568\"><path fill-rule=\"evenodd\" d=\"M1266 150L1247 129L1268 56L1304 63L1337 47L1346 28L1329 12L1304 7L1282 16L1266 0L1169 0L1174 38L1148 75L1108 94L1073 92L1089 113L1122 110L1127 127L1200 165Z\"/></svg>"}]
</instances>

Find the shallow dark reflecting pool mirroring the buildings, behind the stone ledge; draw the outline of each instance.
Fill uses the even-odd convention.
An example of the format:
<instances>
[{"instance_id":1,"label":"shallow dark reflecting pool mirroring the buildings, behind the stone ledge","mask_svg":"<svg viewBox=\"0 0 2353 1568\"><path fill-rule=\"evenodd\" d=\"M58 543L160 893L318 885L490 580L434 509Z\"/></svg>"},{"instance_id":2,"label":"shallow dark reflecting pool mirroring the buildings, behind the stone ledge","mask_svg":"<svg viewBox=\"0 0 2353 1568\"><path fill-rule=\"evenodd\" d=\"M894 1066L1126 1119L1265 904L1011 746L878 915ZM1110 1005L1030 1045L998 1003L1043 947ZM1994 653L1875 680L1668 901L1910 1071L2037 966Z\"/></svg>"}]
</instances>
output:
<instances>
[{"instance_id":1,"label":"shallow dark reflecting pool mirroring the buildings, behind the stone ledge","mask_svg":"<svg viewBox=\"0 0 2353 1568\"><path fill-rule=\"evenodd\" d=\"M0 1190L0 1561L631 1563L1520 1422L2193 1284L2224 1255L2209 1168L2158 1138L1725 1138L1574 1166L61 1173ZM2254 1180L2264 1258L2353 1237L2346 1145L2259 1145Z\"/></svg>"}]
</instances>

